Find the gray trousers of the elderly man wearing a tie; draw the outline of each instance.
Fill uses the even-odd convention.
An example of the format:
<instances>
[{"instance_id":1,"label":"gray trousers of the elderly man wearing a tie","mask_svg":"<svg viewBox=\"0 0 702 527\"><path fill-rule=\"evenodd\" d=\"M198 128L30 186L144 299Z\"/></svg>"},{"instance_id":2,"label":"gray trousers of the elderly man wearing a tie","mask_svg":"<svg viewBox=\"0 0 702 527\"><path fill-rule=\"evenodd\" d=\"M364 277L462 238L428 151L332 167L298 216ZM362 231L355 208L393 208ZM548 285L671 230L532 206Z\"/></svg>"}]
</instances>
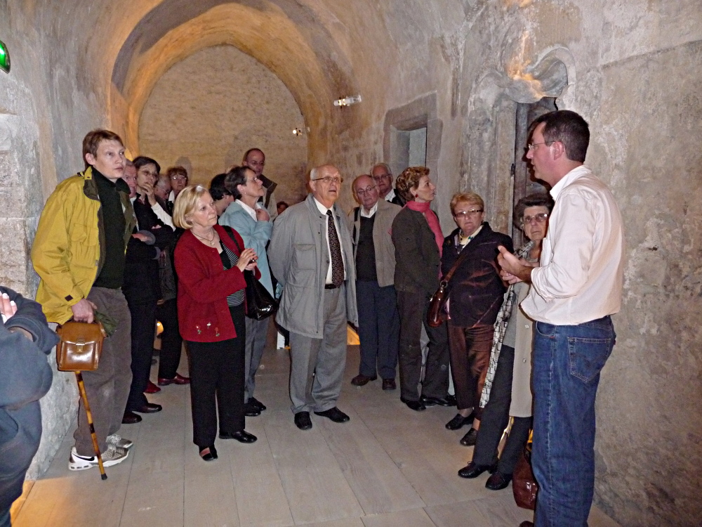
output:
<instances>
[{"instance_id":1,"label":"gray trousers of the elderly man wearing a tie","mask_svg":"<svg viewBox=\"0 0 702 527\"><path fill-rule=\"evenodd\" d=\"M290 400L293 413L336 406L346 367L346 288L324 289L324 336L290 332Z\"/></svg>"}]
</instances>

